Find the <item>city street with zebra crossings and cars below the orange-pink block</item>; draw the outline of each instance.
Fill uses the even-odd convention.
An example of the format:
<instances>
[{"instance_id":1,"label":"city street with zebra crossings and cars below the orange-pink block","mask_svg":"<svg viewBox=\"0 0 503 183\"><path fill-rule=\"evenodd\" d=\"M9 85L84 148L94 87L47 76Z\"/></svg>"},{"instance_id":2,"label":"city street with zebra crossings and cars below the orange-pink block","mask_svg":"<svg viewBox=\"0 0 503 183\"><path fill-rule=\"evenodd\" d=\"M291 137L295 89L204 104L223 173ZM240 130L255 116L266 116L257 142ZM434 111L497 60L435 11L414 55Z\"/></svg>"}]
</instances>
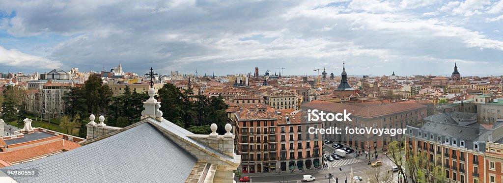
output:
<instances>
[{"instance_id":1,"label":"city street with zebra crossings and cars below the orange-pink block","mask_svg":"<svg viewBox=\"0 0 503 183\"><path fill-rule=\"evenodd\" d=\"M326 148L326 151L333 152L333 148L331 145L327 145L328 148ZM381 154L382 155L382 154ZM377 160L380 160L383 162L383 168L381 171L386 172L388 170L391 170L391 167L394 166L394 163L389 160L387 157L382 155L379 157ZM365 156L363 157L357 157L355 158L351 154L347 154L344 158L341 158L340 160L334 160L332 162L328 162L330 164L328 169L320 169L316 172L299 172L295 171L293 173L290 172L285 172L284 174L276 174L276 175L262 175L262 174L255 174L255 175L243 175L243 176L249 176L251 178L251 182L264 182L264 183L272 183L272 182L301 182L302 181L302 175L309 174L312 175L316 178L315 181L313 182L336 182L336 178L338 178L338 182L344 183L346 180L346 177L348 178L348 181L350 178L350 172L351 168L353 168L353 176L361 176L363 178L362 182L368 182L368 175L366 173L367 170L371 168L371 165L368 165L368 159L365 159ZM375 162L376 159L372 158L370 160L371 162ZM339 169L341 168L342 171ZM325 175L328 175L328 173L332 173L334 176L333 178L325 178ZM397 172L393 172L393 181L392 182L398 182L398 176ZM287 181L288 180L288 181ZM239 182L239 178L236 178L236 182ZM383 181L381 181L383 182Z\"/></svg>"}]
</instances>

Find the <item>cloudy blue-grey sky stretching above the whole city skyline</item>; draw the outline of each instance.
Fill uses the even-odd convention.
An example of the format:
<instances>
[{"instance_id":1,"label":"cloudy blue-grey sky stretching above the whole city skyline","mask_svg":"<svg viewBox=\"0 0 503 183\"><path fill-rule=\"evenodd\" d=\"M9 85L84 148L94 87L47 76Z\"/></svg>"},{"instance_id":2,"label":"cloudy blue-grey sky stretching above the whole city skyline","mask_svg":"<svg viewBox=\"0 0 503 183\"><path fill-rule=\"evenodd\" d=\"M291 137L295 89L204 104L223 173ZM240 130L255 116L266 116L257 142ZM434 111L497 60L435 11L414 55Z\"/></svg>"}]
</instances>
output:
<instances>
[{"instance_id":1,"label":"cloudy blue-grey sky stretching above the whole city skyline","mask_svg":"<svg viewBox=\"0 0 503 183\"><path fill-rule=\"evenodd\" d=\"M0 0L0 72L503 74L503 0ZM284 74L282 74L284 75Z\"/></svg>"}]
</instances>

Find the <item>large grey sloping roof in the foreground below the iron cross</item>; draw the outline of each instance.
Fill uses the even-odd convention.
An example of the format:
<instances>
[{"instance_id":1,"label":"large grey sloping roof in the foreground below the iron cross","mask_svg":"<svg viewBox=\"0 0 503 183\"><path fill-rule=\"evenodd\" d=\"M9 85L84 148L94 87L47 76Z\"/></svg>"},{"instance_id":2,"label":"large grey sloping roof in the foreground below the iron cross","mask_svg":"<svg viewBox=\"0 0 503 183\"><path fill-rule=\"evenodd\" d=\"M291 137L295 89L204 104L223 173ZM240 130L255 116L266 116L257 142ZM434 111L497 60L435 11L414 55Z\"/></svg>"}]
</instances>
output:
<instances>
[{"instance_id":1,"label":"large grey sloping roof in the foreground below the iron cross","mask_svg":"<svg viewBox=\"0 0 503 183\"><path fill-rule=\"evenodd\" d=\"M18 182L184 182L197 159L143 123L110 137L6 168L36 168Z\"/></svg>"}]
</instances>

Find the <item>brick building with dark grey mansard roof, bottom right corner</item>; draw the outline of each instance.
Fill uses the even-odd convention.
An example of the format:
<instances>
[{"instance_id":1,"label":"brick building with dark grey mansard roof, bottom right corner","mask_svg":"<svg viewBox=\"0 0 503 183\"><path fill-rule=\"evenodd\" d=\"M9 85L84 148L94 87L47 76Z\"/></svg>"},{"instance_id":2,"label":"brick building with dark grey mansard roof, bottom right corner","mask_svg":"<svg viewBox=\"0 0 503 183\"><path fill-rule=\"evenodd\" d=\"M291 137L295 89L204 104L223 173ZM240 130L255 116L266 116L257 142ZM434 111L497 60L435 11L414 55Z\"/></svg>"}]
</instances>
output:
<instances>
[{"instance_id":1,"label":"brick building with dark grey mansard roof, bottom right corner","mask_svg":"<svg viewBox=\"0 0 503 183\"><path fill-rule=\"evenodd\" d=\"M496 171L501 168L501 146L495 143L502 141L503 122L486 129L476 122L476 114L462 112L432 115L425 120L419 128L407 126L406 134L413 155L428 157L426 164L430 165L424 164L425 169L441 167L444 181L501 182L501 169Z\"/></svg>"}]
</instances>

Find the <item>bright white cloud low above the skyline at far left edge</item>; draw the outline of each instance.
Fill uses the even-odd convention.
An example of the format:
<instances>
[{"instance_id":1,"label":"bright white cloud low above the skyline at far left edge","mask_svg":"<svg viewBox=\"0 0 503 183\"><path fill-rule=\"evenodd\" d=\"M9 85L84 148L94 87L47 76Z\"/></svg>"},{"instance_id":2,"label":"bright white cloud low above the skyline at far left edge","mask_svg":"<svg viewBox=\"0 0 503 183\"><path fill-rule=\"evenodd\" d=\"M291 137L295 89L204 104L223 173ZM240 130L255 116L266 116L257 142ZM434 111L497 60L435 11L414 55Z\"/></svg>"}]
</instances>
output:
<instances>
[{"instance_id":1,"label":"bright white cloud low above the skyline at far left edge","mask_svg":"<svg viewBox=\"0 0 503 183\"><path fill-rule=\"evenodd\" d=\"M57 60L29 55L15 49L8 50L0 46L0 65L18 68L54 69L59 68L61 63Z\"/></svg>"}]
</instances>

